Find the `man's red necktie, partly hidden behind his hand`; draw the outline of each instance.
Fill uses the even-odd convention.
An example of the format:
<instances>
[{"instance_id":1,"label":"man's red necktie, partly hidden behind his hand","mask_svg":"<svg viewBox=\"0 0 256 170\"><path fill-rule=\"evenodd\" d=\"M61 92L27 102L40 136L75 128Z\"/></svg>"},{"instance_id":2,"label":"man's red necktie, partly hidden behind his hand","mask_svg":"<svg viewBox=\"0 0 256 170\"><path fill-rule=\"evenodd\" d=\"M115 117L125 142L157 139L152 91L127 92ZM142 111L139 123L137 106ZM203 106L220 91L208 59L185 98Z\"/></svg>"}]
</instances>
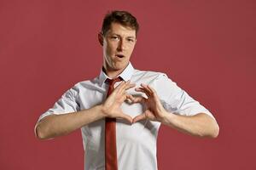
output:
<instances>
[{"instance_id":1,"label":"man's red necktie, partly hidden behind his hand","mask_svg":"<svg viewBox=\"0 0 256 170\"><path fill-rule=\"evenodd\" d=\"M112 80L107 79L109 84L108 96L113 92L113 85L115 82L121 81L120 77L114 78ZM116 127L115 118L106 118L105 124L105 169L106 170L118 170L117 162L117 150L116 150Z\"/></svg>"}]
</instances>

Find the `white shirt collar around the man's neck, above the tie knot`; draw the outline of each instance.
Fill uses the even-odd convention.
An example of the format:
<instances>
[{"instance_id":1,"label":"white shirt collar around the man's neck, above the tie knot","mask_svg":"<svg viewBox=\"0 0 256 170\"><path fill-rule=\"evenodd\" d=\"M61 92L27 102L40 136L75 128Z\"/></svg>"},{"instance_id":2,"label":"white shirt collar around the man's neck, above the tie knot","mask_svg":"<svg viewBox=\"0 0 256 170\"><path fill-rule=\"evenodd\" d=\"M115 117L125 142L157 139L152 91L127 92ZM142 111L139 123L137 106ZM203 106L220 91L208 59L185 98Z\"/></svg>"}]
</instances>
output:
<instances>
[{"instance_id":1,"label":"white shirt collar around the man's neck, above the tie knot","mask_svg":"<svg viewBox=\"0 0 256 170\"><path fill-rule=\"evenodd\" d=\"M127 82L128 80L131 79L133 71L134 71L134 68L131 65L131 62L129 62L129 65L126 66L125 70L122 71L118 77L121 77L125 82ZM105 82L108 78L109 77L106 75L106 73L103 70L101 70L101 73L99 76L100 86L102 86L103 82Z\"/></svg>"}]
</instances>

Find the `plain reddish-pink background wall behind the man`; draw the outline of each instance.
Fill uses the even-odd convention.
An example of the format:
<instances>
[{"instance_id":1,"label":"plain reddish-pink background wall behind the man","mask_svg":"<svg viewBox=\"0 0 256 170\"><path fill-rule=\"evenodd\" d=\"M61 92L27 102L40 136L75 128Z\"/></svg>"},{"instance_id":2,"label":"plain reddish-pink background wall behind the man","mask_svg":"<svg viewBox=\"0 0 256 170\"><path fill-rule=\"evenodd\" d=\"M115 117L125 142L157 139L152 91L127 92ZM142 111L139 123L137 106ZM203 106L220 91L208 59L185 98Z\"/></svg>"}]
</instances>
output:
<instances>
[{"instance_id":1,"label":"plain reddish-pink background wall behind the man","mask_svg":"<svg viewBox=\"0 0 256 170\"><path fill-rule=\"evenodd\" d=\"M162 126L159 168L256 169L255 1L152 2L0 2L0 169L83 169L79 130L40 141L33 128L68 88L98 75L97 31L112 9L131 11L140 23L132 64L166 72L220 126L218 139Z\"/></svg>"}]
</instances>

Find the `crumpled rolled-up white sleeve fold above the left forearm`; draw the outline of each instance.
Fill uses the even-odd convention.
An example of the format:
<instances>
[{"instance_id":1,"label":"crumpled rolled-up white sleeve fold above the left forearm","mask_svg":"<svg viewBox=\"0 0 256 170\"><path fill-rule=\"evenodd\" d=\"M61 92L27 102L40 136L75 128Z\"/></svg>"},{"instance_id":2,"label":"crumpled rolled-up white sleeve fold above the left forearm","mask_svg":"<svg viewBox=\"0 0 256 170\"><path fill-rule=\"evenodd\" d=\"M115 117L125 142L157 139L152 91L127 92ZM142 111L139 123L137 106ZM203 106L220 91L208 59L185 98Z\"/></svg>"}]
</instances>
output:
<instances>
[{"instance_id":1,"label":"crumpled rolled-up white sleeve fold above the left forearm","mask_svg":"<svg viewBox=\"0 0 256 170\"><path fill-rule=\"evenodd\" d=\"M44 112L44 114L39 117L38 122L42 120L45 116L53 114L60 115L79 111L79 103L77 102L76 96L77 91L75 90L75 88L67 90L67 92L61 96L61 99L55 102L55 105L53 105L52 108Z\"/></svg>"}]
</instances>

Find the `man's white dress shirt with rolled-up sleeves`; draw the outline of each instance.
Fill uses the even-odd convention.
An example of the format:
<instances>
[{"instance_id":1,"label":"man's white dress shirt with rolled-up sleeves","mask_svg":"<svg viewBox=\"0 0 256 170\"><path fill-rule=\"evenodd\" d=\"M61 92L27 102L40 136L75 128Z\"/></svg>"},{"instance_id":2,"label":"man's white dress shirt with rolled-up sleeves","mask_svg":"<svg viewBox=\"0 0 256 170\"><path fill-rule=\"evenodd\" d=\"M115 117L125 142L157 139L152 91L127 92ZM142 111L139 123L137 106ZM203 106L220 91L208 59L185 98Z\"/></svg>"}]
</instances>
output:
<instances>
[{"instance_id":1,"label":"man's white dress shirt with rolled-up sleeves","mask_svg":"<svg viewBox=\"0 0 256 170\"><path fill-rule=\"evenodd\" d=\"M186 116L203 112L212 116L210 111L189 97L183 89L178 88L177 84L164 73L138 71L130 63L119 77L125 81L131 80L136 83L136 87L145 83L154 88L166 111ZM95 79L77 83L67 90L49 111L40 116L39 120L44 116L82 111L102 104L108 92L108 84L105 83L107 78L108 76L101 71ZM115 87L118 84L119 82ZM145 94L136 92L134 88L129 89L127 93L146 97ZM142 104L124 103L121 109L131 117L143 113ZM130 125L125 120L117 119L116 144L119 170L157 169L156 139L159 127L160 122L143 120ZM105 120L92 122L82 127L81 131L84 144L84 169L105 169Z\"/></svg>"}]
</instances>

